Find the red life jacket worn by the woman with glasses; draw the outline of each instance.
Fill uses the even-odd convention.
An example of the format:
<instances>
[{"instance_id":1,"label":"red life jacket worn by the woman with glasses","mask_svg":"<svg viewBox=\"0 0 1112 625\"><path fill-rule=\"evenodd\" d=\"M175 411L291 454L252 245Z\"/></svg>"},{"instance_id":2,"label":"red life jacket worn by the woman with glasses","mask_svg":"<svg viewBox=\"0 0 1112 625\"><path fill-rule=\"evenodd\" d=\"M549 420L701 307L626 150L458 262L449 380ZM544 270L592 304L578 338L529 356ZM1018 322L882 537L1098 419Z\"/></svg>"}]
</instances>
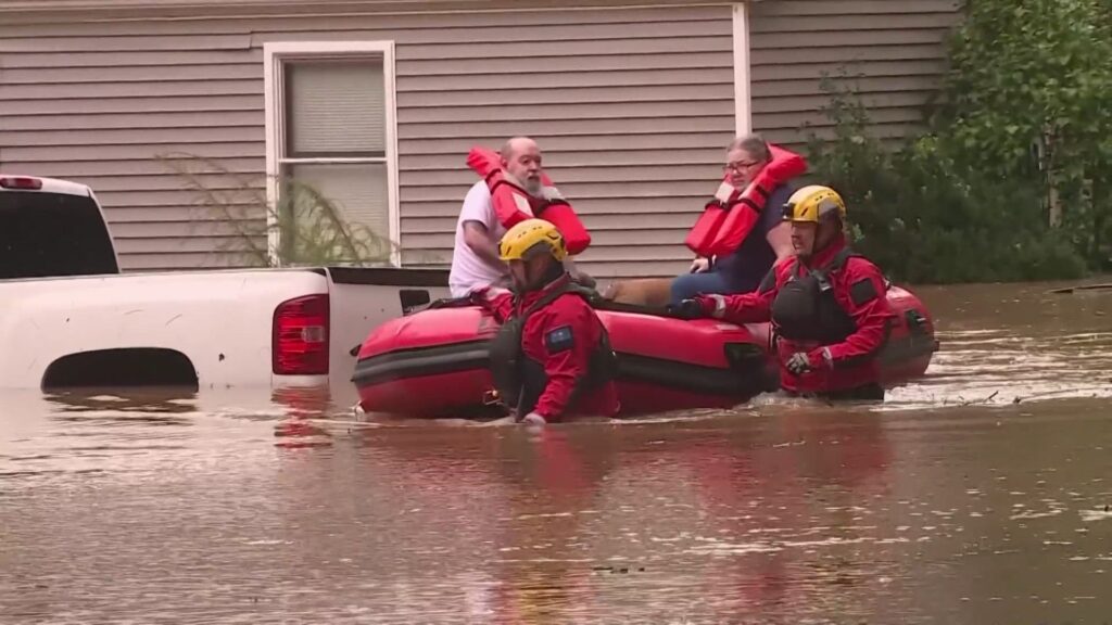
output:
<instances>
[{"instance_id":1,"label":"red life jacket worn by the woman with glasses","mask_svg":"<svg viewBox=\"0 0 1112 625\"><path fill-rule=\"evenodd\" d=\"M772 160L744 190L734 188L726 173L718 192L706 202L684 239L692 251L705 258L732 254L761 219L773 189L807 170L807 161L802 156L772 143L768 149Z\"/></svg>"}]
</instances>

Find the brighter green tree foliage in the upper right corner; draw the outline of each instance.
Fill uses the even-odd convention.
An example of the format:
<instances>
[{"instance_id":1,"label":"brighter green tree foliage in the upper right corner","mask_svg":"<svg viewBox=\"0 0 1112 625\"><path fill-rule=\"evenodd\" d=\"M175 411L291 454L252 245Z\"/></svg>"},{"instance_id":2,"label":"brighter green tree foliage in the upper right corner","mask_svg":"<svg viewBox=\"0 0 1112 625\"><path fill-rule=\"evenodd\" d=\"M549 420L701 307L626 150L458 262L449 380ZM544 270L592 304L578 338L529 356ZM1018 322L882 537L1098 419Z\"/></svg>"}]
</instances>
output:
<instances>
[{"instance_id":1,"label":"brighter green tree foliage in the upper right corner","mask_svg":"<svg viewBox=\"0 0 1112 625\"><path fill-rule=\"evenodd\" d=\"M933 126L957 142L963 166L1039 179L1101 267L1112 234L1112 1L970 0L966 9Z\"/></svg>"}]
</instances>

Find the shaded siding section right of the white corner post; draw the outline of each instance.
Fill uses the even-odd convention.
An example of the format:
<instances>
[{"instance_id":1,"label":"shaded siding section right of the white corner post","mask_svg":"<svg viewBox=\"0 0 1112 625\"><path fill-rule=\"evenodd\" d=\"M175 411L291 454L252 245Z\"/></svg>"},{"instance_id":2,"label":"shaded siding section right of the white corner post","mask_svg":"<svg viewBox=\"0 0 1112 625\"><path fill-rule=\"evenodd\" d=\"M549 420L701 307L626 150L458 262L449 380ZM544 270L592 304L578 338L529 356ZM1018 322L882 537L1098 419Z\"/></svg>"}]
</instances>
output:
<instances>
[{"instance_id":1,"label":"shaded siding section right of the white corner post","mask_svg":"<svg viewBox=\"0 0 1112 625\"><path fill-rule=\"evenodd\" d=\"M872 132L921 128L922 107L945 70L956 0L768 0L749 9L753 127L770 140L831 137L823 72L868 108ZM843 73L844 72L844 73Z\"/></svg>"}]
</instances>

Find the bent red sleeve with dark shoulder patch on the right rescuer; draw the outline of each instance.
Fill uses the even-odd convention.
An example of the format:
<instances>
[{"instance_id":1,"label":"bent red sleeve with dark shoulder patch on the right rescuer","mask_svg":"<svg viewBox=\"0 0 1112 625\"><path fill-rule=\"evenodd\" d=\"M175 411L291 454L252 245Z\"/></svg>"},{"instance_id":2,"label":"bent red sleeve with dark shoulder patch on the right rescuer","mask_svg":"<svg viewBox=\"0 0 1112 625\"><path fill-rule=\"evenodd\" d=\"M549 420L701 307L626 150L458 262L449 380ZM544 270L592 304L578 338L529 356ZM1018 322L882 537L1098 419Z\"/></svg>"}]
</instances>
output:
<instances>
[{"instance_id":1,"label":"bent red sleeve with dark shoulder patch on the right rescuer","mask_svg":"<svg viewBox=\"0 0 1112 625\"><path fill-rule=\"evenodd\" d=\"M838 299L856 323L857 331L826 347L835 368L854 367L875 357L887 343L895 319L885 295L884 276L872 262L863 258L847 260L842 287Z\"/></svg>"}]
</instances>

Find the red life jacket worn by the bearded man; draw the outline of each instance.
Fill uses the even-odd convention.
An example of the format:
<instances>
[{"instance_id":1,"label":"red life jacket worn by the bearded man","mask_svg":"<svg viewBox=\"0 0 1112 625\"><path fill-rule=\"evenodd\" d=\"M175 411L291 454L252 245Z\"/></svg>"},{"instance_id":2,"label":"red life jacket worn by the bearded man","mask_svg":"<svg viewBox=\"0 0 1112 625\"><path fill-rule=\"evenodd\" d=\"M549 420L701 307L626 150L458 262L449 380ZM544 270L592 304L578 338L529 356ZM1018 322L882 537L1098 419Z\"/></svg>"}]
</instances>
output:
<instances>
[{"instance_id":1,"label":"red life jacket worn by the bearded man","mask_svg":"<svg viewBox=\"0 0 1112 625\"><path fill-rule=\"evenodd\" d=\"M572 205L553 186L547 173L540 173L544 198L530 195L502 167L498 152L475 147L467 153L467 167L486 180L490 189L490 200L498 221L507 229L519 221L537 217L548 221L564 236L564 244L570 255L579 254L590 245L590 235L579 221Z\"/></svg>"}]
</instances>

